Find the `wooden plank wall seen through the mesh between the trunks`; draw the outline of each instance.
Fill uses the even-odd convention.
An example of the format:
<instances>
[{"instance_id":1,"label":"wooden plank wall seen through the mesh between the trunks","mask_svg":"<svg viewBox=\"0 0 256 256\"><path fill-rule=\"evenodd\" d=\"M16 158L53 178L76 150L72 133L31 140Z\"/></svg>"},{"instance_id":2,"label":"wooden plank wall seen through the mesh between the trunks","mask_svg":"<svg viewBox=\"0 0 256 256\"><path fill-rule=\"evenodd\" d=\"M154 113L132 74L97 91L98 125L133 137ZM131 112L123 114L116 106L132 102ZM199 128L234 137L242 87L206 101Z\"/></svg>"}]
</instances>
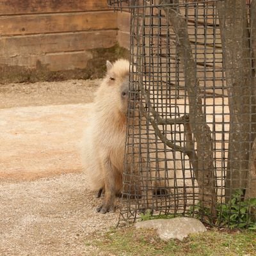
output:
<instances>
[{"instance_id":1,"label":"wooden plank wall seen through the mesh between the trunks","mask_svg":"<svg viewBox=\"0 0 256 256\"><path fill-rule=\"evenodd\" d=\"M179 69L177 69L179 60L177 59L177 47L175 46L175 33L172 27L167 28L168 22L164 12L157 8L152 9L150 6L143 11L141 10L141 12L145 15L143 33L138 36L140 42L134 40L134 44L136 42L138 45L145 44L145 61L143 64L145 72L148 72L148 81L156 83L161 81L163 84L170 81L172 86L179 81L179 86L184 88L185 79L182 65L179 65ZM189 40L202 93L205 93L205 95L227 94L223 90L225 81L223 79L221 35L218 19L216 19L216 9L212 4L208 4L196 10L192 6L187 11L184 7L180 7L180 12L184 17L187 15ZM125 36L122 31L127 31L129 15L127 13L121 13L121 15L118 16L118 26L120 28L118 38L119 42L125 45L127 40L124 42ZM140 13L136 15L139 16ZM197 16L196 19L195 15ZM136 16L135 20L140 20L140 18L137 18ZM161 26L158 26L160 23ZM139 28L138 31L141 31L141 29ZM134 45L134 59L136 59L136 51L137 45ZM174 88L175 86L173 90Z\"/></svg>"}]
</instances>

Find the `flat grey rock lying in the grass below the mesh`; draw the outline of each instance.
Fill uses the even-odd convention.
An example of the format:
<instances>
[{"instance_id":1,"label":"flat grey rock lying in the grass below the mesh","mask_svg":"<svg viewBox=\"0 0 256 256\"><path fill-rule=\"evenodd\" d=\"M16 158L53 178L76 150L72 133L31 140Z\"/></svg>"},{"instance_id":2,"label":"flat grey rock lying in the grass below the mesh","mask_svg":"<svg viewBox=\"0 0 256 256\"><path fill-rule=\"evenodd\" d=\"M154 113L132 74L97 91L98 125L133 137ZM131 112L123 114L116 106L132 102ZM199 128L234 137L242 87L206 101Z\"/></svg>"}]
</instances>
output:
<instances>
[{"instance_id":1,"label":"flat grey rock lying in the grass below the mesh","mask_svg":"<svg viewBox=\"0 0 256 256\"><path fill-rule=\"evenodd\" d=\"M140 221L135 224L135 227L154 228L157 230L158 236L164 241L175 238L182 241L189 234L207 231L201 221L185 217Z\"/></svg>"}]
</instances>

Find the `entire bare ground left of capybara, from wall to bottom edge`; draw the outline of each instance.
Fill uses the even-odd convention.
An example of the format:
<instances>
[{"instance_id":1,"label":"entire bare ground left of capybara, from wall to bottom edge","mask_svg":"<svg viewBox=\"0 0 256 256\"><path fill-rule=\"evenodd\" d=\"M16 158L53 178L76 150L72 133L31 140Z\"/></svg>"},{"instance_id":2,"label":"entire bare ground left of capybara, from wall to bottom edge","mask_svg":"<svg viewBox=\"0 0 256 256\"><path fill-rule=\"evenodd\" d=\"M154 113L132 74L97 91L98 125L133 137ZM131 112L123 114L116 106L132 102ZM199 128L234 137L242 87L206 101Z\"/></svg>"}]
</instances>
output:
<instances>
[{"instance_id":1,"label":"entire bare ground left of capybara, from wall to bottom edge","mask_svg":"<svg viewBox=\"0 0 256 256\"><path fill-rule=\"evenodd\" d=\"M1 256L102 254L86 238L118 213L95 213L79 159L96 84L0 84Z\"/></svg>"}]
</instances>

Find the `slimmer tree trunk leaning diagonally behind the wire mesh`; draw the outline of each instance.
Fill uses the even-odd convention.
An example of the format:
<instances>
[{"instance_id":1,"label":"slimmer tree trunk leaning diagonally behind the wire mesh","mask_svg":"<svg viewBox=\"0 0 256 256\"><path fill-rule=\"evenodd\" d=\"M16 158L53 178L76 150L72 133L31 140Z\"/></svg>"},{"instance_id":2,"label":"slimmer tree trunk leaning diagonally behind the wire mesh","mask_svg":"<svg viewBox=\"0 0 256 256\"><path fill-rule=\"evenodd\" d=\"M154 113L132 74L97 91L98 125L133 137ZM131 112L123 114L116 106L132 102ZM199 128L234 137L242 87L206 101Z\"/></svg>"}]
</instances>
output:
<instances>
[{"instance_id":1,"label":"slimmer tree trunk leaning diagonally behind the wire mesh","mask_svg":"<svg viewBox=\"0 0 256 256\"><path fill-rule=\"evenodd\" d=\"M160 4L179 3L175 0L161 0ZM213 147L211 130L206 124L206 117L202 109L199 81L196 76L196 63L193 58L188 36L188 27L178 6L164 6L166 20L173 27L176 34L177 51L184 70L186 90L189 96L189 122L196 140L198 156L195 177L199 187L199 199L202 207L211 209L214 216L216 192L214 188L215 175L213 166Z\"/></svg>"}]
</instances>

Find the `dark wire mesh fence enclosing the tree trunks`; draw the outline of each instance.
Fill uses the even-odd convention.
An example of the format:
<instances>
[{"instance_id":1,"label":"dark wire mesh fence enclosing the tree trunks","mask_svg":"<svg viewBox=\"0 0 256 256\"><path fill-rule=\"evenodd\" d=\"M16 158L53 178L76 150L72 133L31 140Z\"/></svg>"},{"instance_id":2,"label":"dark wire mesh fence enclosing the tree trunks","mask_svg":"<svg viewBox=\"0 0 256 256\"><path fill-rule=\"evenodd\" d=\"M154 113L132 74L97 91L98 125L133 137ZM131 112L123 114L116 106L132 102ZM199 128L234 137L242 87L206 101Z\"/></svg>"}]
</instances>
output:
<instances>
[{"instance_id":1,"label":"dark wire mesh fence enclosing the tree trunks","mask_svg":"<svg viewBox=\"0 0 256 256\"><path fill-rule=\"evenodd\" d=\"M109 0L131 12L120 225L255 228L256 1Z\"/></svg>"}]
</instances>

